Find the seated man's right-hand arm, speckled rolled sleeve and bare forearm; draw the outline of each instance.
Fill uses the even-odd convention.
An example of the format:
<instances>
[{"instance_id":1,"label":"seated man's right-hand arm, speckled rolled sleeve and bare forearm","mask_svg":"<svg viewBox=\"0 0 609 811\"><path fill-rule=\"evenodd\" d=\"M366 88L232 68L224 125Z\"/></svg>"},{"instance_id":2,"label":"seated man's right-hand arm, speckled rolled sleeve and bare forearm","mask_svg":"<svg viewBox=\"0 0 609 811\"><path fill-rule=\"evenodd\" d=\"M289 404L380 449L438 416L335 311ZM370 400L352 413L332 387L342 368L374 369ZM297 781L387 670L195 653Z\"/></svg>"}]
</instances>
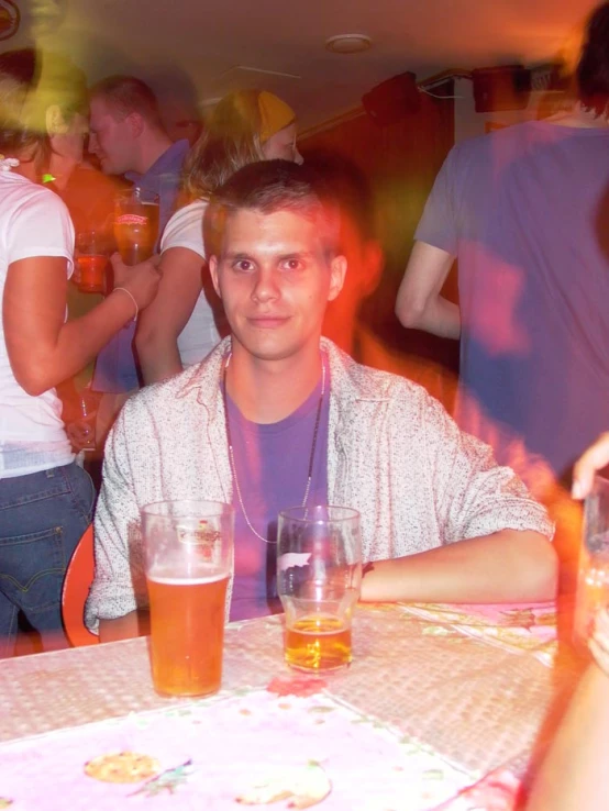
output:
<instances>
[{"instance_id":1,"label":"seated man's right-hand arm, speckled rolled sleeve and bare forearm","mask_svg":"<svg viewBox=\"0 0 609 811\"><path fill-rule=\"evenodd\" d=\"M438 527L436 545L391 560L372 562L364 600L517 602L555 596L553 524L512 469L496 464L488 445L462 431L424 392L418 392L417 442L409 446L421 509ZM396 442L407 430L392 419ZM407 471L402 470L402 476ZM394 493L399 498L399 489ZM397 540L399 541L399 538ZM399 547L399 545L398 545Z\"/></svg>"}]
</instances>

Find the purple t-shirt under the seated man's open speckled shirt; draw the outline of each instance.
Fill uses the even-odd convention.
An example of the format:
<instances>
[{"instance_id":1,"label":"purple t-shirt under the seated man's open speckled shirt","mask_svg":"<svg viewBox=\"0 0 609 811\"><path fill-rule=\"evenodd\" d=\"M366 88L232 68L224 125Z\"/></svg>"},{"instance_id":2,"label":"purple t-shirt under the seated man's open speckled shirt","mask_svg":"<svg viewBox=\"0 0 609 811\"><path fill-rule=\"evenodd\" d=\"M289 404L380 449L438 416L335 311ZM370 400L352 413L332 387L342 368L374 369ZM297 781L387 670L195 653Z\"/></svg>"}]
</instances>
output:
<instances>
[{"instance_id":1,"label":"purple t-shirt under the seated man's open speckled shirt","mask_svg":"<svg viewBox=\"0 0 609 811\"><path fill-rule=\"evenodd\" d=\"M309 504L328 502L329 389L326 370ZM233 487L235 575L231 620L264 616L283 610L276 584L277 515L287 507L302 503L320 396L321 380L292 414L269 425L250 422L226 397L231 441L245 511L256 532L270 542L264 543L250 530L236 488Z\"/></svg>"}]
</instances>

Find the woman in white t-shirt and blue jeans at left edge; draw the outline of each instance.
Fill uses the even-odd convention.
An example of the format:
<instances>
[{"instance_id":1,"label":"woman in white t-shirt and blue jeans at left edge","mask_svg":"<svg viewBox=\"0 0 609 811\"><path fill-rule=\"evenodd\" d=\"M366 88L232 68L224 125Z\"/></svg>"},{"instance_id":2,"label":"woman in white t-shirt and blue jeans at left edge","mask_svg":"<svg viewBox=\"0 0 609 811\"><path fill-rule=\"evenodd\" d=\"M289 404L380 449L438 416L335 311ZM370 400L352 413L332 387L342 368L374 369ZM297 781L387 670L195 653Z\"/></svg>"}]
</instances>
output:
<instances>
[{"instance_id":1,"label":"woman in white t-shirt and blue jeans at left edge","mask_svg":"<svg viewBox=\"0 0 609 811\"><path fill-rule=\"evenodd\" d=\"M22 612L45 647L65 644L66 566L91 520L93 488L74 462L55 386L79 371L150 303L154 263L66 322L74 227L64 202L38 185L54 149L82 152L86 82L66 59L32 49L0 56L0 657Z\"/></svg>"}]
</instances>

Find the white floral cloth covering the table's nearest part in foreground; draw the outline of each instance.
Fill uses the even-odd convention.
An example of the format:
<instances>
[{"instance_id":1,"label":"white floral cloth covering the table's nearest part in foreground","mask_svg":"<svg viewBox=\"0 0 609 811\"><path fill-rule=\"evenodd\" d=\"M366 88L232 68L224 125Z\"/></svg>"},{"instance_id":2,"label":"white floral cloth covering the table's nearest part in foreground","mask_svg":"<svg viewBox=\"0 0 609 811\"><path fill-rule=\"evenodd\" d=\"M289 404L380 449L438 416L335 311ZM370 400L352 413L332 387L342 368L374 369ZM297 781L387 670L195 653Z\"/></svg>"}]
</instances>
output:
<instances>
[{"instance_id":1,"label":"white floral cloth covering the table's nearest part in foreground","mask_svg":"<svg viewBox=\"0 0 609 811\"><path fill-rule=\"evenodd\" d=\"M424 811L455 798L455 811L468 808L458 795L476 775L309 684L319 691L274 680L4 744L0 808ZM134 758L154 774L133 779L123 767Z\"/></svg>"}]
</instances>

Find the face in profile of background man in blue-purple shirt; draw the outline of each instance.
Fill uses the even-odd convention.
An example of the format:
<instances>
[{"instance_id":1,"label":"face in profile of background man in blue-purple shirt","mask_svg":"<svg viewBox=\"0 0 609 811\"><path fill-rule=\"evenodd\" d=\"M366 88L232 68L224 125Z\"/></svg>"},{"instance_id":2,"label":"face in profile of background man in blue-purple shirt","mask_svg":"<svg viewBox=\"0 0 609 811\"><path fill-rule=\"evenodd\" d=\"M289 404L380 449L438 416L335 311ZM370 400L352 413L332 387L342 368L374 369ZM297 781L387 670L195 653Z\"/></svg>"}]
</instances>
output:
<instances>
[{"instance_id":1,"label":"face in profile of background man in blue-purple shirt","mask_svg":"<svg viewBox=\"0 0 609 811\"><path fill-rule=\"evenodd\" d=\"M132 170L134 145L130 116L120 119L103 99L92 99L89 152L98 157L103 174L124 175Z\"/></svg>"}]
</instances>

